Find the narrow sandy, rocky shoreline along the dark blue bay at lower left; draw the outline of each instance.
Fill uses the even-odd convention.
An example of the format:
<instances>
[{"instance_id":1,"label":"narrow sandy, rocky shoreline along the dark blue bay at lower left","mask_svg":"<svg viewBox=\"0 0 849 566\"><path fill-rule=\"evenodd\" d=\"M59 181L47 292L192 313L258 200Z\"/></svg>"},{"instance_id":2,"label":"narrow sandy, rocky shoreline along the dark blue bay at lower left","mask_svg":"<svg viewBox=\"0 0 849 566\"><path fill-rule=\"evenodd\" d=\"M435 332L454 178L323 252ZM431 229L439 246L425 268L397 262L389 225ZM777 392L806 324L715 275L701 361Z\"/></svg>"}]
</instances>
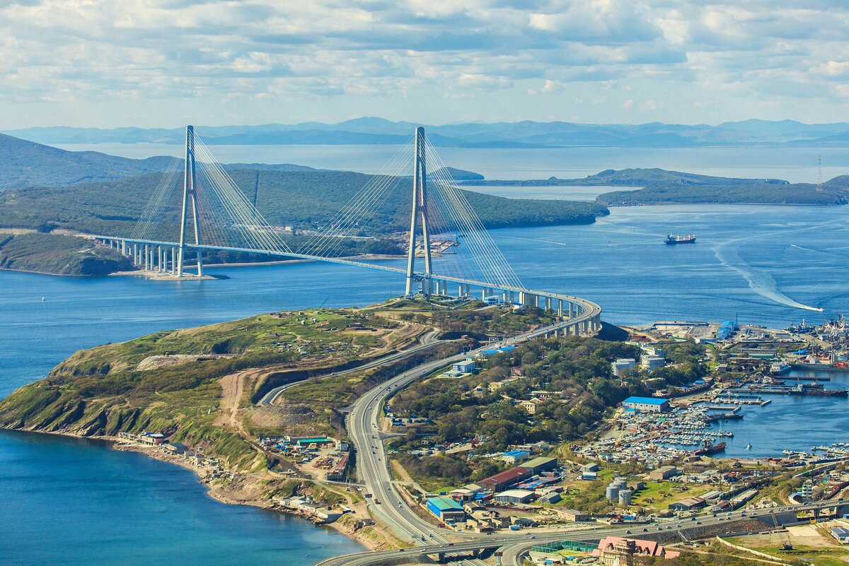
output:
<instances>
[{"instance_id":1,"label":"narrow sandy, rocky shoreline along the dark blue bay at lower left","mask_svg":"<svg viewBox=\"0 0 849 566\"><path fill-rule=\"evenodd\" d=\"M25 429L3 429L3 430L11 430L14 432L26 433L26 434L37 434L37 435L50 435L50 436L65 436L68 438L74 438L77 440L85 440L85 441L94 441L98 443L102 443L107 445L110 450L115 450L118 452L137 452L139 454L143 454L148 458L153 458L160 462L170 463L173 465L177 465L183 469L187 469L194 473L197 477L198 483L206 486L205 495L207 497L211 497L215 499L217 502L225 503L227 505L247 505L250 507L264 509L266 511L273 511L275 513L284 513L290 515L292 517L297 517L299 519L303 519L307 522L312 522L306 519L306 517L301 513L292 513L285 508L282 508L278 505L275 505L269 499L260 499L257 497L250 497L251 488L257 487L261 480L258 478L251 478L249 475L238 474L235 472L233 476L239 480L239 486L233 487L232 489L228 489L221 485L216 485L211 481L206 480L205 472L210 472L211 468L209 466L200 465L194 466L189 463L188 460L174 455L167 454L166 452L162 452L157 450L156 447L147 446L143 444L139 444L138 442L127 441L126 438L121 438L118 436L80 436L71 434L69 432L61 432L61 431L47 431L47 430L25 430ZM312 481L318 486L323 486L321 482ZM242 493L245 497L238 497L238 494ZM351 527L350 522L348 521L335 521L334 523L328 524L315 524L317 528L326 527L332 530L335 530L340 535L346 536L351 541L355 541L358 544L362 545L368 551L378 551L385 550L387 547L385 545L381 545L379 540L376 540L374 536L367 536L368 533L361 532L362 530L355 530ZM378 527L380 528L380 527Z\"/></svg>"}]
</instances>

